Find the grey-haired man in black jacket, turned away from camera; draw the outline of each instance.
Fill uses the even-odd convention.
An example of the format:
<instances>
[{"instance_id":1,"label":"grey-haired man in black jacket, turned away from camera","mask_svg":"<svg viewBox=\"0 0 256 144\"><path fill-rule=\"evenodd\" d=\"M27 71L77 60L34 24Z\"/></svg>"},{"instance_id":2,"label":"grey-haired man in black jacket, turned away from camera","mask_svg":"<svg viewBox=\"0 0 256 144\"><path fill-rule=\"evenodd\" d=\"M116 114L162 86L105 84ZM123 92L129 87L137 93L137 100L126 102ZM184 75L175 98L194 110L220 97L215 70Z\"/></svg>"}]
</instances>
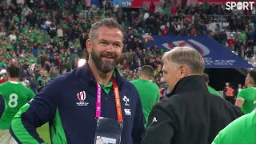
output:
<instances>
[{"instance_id":1,"label":"grey-haired man in black jacket, turned away from camera","mask_svg":"<svg viewBox=\"0 0 256 144\"><path fill-rule=\"evenodd\" d=\"M242 115L217 95L210 94L202 78L205 62L189 47L177 47L162 57L168 98L154 106L142 144L206 144Z\"/></svg>"}]
</instances>

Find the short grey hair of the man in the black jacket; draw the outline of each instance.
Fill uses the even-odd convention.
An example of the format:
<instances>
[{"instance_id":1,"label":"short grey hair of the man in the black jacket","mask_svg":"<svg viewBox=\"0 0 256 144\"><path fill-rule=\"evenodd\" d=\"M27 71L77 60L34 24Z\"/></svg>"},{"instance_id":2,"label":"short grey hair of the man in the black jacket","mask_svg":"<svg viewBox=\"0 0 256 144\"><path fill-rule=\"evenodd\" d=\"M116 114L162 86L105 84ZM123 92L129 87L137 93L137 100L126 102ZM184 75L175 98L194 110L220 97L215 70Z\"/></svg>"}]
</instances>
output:
<instances>
[{"instance_id":1,"label":"short grey hair of the man in the black jacket","mask_svg":"<svg viewBox=\"0 0 256 144\"><path fill-rule=\"evenodd\" d=\"M171 62L176 66L186 65L190 68L191 74L203 74L205 70L205 61L202 55L193 48L184 47L174 47L163 54L162 62Z\"/></svg>"}]
</instances>

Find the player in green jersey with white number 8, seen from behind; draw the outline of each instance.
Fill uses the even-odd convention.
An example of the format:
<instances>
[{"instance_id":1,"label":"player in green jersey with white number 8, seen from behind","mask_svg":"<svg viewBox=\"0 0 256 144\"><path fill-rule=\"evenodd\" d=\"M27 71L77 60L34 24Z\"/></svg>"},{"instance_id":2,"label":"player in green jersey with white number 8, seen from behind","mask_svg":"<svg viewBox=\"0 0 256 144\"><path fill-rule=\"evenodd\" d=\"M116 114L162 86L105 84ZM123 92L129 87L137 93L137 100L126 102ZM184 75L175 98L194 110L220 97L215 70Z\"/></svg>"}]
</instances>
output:
<instances>
[{"instance_id":1,"label":"player in green jersey with white number 8, seen from behind","mask_svg":"<svg viewBox=\"0 0 256 144\"><path fill-rule=\"evenodd\" d=\"M18 82L20 68L14 63L7 66L8 82L0 85L0 92L6 101L6 108L0 118L0 142L11 143L14 138L10 135L10 122L18 110L34 98L34 92Z\"/></svg>"}]
</instances>

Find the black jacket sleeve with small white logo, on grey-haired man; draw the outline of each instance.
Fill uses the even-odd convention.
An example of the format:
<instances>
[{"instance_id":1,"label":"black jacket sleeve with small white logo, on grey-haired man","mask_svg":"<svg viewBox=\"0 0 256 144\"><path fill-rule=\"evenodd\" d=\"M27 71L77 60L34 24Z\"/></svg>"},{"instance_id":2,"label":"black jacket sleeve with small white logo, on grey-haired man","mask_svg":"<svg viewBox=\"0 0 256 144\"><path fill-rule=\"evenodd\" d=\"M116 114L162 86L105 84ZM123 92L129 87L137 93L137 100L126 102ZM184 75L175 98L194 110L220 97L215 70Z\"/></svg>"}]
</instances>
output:
<instances>
[{"instance_id":1,"label":"black jacket sleeve with small white logo, on grey-haired man","mask_svg":"<svg viewBox=\"0 0 256 144\"><path fill-rule=\"evenodd\" d=\"M174 113L169 113L168 110L160 106L161 102L154 106L150 112L146 135L143 138L142 144L170 144L171 138L177 129L178 122L174 117Z\"/></svg>"}]
</instances>

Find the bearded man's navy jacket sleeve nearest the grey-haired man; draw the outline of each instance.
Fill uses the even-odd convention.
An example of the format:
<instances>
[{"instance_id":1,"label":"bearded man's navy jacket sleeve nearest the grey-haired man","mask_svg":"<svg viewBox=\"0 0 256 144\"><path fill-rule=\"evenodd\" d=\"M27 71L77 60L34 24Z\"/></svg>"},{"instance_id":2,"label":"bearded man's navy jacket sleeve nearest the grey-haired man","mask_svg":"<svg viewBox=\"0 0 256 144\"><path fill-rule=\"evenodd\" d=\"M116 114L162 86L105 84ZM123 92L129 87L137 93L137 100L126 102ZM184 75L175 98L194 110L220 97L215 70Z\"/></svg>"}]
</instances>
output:
<instances>
[{"instance_id":1,"label":"bearded man's navy jacket sleeve nearest the grey-haired man","mask_svg":"<svg viewBox=\"0 0 256 144\"><path fill-rule=\"evenodd\" d=\"M141 144L142 143L142 138L145 135L145 117L142 111L142 102L139 97L138 91L135 90L135 94L137 94L138 97L138 102L136 106L136 112L134 116L134 125L133 125L133 131L132 131L132 138L134 144Z\"/></svg>"}]
</instances>

